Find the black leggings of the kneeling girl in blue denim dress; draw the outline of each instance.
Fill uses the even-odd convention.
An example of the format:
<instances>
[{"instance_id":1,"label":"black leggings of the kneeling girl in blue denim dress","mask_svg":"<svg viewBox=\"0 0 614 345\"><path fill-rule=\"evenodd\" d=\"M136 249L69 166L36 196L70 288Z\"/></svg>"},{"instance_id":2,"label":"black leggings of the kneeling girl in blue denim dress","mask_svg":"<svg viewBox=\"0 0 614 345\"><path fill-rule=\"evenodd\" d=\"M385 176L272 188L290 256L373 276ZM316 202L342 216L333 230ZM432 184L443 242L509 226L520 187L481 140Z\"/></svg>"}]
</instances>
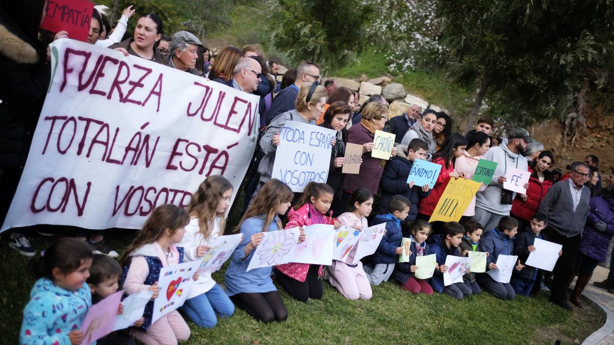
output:
<instances>
[{"instance_id":1,"label":"black leggings of the kneeling girl in blue denim dress","mask_svg":"<svg viewBox=\"0 0 614 345\"><path fill-rule=\"evenodd\" d=\"M230 299L247 314L265 324L273 321L284 321L288 318L288 311L279 292L242 292L230 297Z\"/></svg>"}]
</instances>

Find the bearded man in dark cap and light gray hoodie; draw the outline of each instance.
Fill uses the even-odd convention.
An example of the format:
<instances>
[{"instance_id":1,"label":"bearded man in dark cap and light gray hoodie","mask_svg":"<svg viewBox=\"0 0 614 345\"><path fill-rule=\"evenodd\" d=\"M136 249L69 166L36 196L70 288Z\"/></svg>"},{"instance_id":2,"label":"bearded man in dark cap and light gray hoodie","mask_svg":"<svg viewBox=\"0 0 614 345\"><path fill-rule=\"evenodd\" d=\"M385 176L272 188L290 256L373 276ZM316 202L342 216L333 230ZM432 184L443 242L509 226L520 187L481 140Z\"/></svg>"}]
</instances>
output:
<instances>
[{"instance_id":1,"label":"bearded man in dark cap and light gray hoodie","mask_svg":"<svg viewBox=\"0 0 614 345\"><path fill-rule=\"evenodd\" d=\"M502 143L492 147L484 155L485 160L497 163L491 184L475 196L475 215L472 220L483 225L484 232L491 231L499 225L499 220L503 216L510 215L511 201L514 200L516 193L503 189L503 182L507 180L505 171L509 168L529 170L524 155L529 144L534 141L527 130L516 128L510 132L507 144ZM529 184L525 184L524 188L529 188Z\"/></svg>"}]
</instances>

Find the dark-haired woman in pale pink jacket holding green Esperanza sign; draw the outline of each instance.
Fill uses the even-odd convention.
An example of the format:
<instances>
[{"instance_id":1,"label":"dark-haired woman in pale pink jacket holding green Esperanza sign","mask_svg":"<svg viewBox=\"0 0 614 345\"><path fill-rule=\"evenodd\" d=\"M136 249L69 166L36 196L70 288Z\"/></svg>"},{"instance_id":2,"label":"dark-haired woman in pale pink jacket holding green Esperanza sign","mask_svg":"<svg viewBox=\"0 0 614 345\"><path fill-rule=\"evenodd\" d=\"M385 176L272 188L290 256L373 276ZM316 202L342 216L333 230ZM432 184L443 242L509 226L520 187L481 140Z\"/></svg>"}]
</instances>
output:
<instances>
[{"instance_id":1,"label":"dark-haired woman in pale pink jacket holding green Esperanza sign","mask_svg":"<svg viewBox=\"0 0 614 345\"><path fill-rule=\"evenodd\" d=\"M462 172L465 179L471 179L475 174L475 169L478 168L478 163L491 146L491 138L484 132L470 132L467 134L467 142L467 149L462 152L461 157L456 159L454 168L457 172ZM482 184L479 191L484 189L486 185ZM475 195L462 214L460 223L464 224L473 215L475 215Z\"/></svg>"}]
</instances>

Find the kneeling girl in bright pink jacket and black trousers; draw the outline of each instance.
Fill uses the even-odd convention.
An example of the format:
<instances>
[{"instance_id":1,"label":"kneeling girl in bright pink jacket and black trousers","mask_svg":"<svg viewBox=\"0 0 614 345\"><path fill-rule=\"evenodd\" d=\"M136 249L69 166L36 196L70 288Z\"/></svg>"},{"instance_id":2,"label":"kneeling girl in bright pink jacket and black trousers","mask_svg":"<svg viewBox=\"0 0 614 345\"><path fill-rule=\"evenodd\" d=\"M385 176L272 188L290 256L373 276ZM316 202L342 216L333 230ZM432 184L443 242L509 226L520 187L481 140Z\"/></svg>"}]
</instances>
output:
<instances>
[{"instance_id":1,"label":"kneeling girl in bright pink jacket and black trousers","mask_svg":"<svg viewBox=\"0 0 614 345\"><path fill-rule=\"evenodd\" d=\"M341 223L332 217L332 212L329 213L332 202L333 188L309 182L298 203L288 212L286 229L313 224L341 227ZM322 265L291 262L275 266L274 272L275 279L295 300L306 302L309 298L322 298Z\"/></svg>"}]
</instances>

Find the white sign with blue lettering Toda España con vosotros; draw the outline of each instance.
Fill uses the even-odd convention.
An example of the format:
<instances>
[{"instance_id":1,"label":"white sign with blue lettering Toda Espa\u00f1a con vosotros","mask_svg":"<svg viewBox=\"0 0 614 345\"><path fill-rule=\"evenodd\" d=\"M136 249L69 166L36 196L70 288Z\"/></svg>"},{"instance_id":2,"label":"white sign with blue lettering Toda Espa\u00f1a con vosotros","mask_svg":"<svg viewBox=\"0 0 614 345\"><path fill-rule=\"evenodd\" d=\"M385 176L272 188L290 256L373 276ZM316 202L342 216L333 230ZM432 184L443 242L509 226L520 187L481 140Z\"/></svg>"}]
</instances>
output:
<instances>
[{"instance_id":1,"label":"white sign with blue lettering Toda Espa\u00f1a con vosotros","mask_svg":"<svg viewBox=\"0 0 614 345\"><path fill-rule=\"evenodd\" d=\"M325 184L330 168L330 142L335 136L330 128L286 122L279 131L281 143L275 153L271 178L281 180L295 193L303 192L311 181Z\"/></svg>"}]
</instances>

